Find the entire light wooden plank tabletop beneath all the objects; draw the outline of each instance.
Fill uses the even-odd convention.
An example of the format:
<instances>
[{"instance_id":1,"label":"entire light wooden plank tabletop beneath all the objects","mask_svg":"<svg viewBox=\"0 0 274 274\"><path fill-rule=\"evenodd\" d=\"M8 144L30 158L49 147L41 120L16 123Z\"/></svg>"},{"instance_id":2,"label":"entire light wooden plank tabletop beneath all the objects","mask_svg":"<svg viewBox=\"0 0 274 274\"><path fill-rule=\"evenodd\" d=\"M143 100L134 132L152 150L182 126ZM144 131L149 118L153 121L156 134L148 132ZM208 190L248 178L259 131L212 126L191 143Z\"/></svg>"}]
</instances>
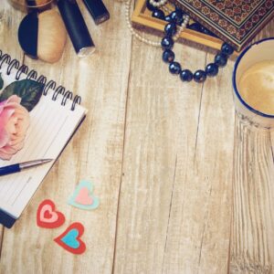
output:
<instances>
[{"instance_id":1,"label":"entire light wooden plank tabletop beneath all the objects","mask_svg":"<svg viewBox=\"0 0 274 274\"><path fill-rule=\"evenodd\" d=\"M78 2L98 50L79 59L68 39L51 65L24 55L16 38L24 14L1 1L1 49L74 90L89 113L16 225L0 227L0 272L274 273L274 133L237 120L235 60L204 84L183 83L160 48L132 38L124 1L105 0L111 20L100 26ZM274 20L256 39L270 36ZM183 44L174 51L184 67L214 59ZM67 204L80 180L95 185L94 211ZM46 198L64 226L36 226ZM53 241L77 221L87 245L79 256Z\"/></svg>"}]
</instances>

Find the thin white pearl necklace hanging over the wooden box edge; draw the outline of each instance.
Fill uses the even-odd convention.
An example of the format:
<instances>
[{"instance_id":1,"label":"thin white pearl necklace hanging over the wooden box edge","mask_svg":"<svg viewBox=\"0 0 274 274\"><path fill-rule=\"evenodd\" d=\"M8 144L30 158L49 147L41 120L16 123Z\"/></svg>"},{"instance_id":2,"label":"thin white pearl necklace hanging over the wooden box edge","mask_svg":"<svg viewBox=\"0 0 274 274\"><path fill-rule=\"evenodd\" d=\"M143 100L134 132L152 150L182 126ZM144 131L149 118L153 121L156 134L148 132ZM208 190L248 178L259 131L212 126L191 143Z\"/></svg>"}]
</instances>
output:
<instances>
[{"instance_id":1,"label":"thin white pearl necklace hanging over the wooden box edge","mask_svg":"<svg viewBox=\"0 0 274 274\"><path fill-rule=\"evenodd\" d=\"M166 3L167 3L167 0L160 0L159 2L156 2L154 0L150 0L150 4L153 5L154 7L160 7L160 6L165 5ZM153 46L153 47L162 47L161 41L149 40L145 37L142 37L141 35L139 35L134 30L134 28L132 27L131 16L130 16L131 5L132 5L132 0L128 0L126 2L126 6L125 6L125 17L126 17L127 26L130 29L130 31L132 33L132 36L137 38L138 40L142 41L143 43L145 43L147 45L150 45L150 46ZM167 10L167 8L166 8L166 10ZM176 34L173 37L174 41L177 40L180 37L180 34L184 31L184 28L188 24L188 21L189 21L189 16L185 15L184 16L184 22L183 22L182 26L179 26L178 31L176 32Z\"/></svg>"}]
</instances>

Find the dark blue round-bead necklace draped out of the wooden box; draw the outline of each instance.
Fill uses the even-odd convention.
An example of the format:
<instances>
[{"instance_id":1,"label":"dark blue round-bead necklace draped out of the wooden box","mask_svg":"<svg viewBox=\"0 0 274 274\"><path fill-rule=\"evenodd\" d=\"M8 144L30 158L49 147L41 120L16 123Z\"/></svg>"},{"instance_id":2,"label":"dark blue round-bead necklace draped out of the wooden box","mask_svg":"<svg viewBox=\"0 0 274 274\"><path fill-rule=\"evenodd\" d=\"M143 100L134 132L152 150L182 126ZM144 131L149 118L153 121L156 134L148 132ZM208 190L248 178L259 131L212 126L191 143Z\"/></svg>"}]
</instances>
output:
<instances>
[{"instance_id":1,"label":"dark blue round-bead necklace draped out of the wooden box","mask_svg":"<svg viewBox=\"0 0 274 274\"><path fill-rule=\"evenodd\" d=\"M182 81L189 82L192 79L197 83L205 82L207 77L215 77L218 73L219 68L223 68L227 65L227 58L231 56L234 52L234 48L224 43L221 47L221 50L216 54L214 63L209 63L205 66L205 69L197 69L194 73L189 69L182 69L179 62L174 61L175 54L172 48L174 47L174 35L177 30L177 25L181 26L185 15L182 9L175 7L175 10L168 16L164 16L164 13L161 9L154 7L150 4L150 1L146 1L147 8L153 12L153 17L167 21L168 23L164 26L164 37L161 41L161 46L163 48L163 61L169 64L169 71L172 74L180 76ZM207 35L215 36L205 27L194 23L188 28L194 29L196 31L201 31Z\"/></svg>"}]
</instances>

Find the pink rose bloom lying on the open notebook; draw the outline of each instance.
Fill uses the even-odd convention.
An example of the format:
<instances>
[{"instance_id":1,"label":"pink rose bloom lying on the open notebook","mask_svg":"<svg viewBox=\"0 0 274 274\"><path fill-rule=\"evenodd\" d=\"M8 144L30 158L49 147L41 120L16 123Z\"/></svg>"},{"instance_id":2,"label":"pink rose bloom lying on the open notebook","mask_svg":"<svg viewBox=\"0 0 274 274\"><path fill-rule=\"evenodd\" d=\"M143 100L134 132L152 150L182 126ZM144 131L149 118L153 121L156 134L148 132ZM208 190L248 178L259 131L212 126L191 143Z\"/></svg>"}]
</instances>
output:
<instances>
[{"instance_id":1,"label":"pink rose bloom lying on the open notebook","mask_svg":"<svg viewBox=\"0 0 274 274\"><path fill-rule=\"evenodd\" d=\"M0 102L0 158L4 160L10 160L24 146L29 114L20 101L12 95Z\"/></svg>"}]
</instances>

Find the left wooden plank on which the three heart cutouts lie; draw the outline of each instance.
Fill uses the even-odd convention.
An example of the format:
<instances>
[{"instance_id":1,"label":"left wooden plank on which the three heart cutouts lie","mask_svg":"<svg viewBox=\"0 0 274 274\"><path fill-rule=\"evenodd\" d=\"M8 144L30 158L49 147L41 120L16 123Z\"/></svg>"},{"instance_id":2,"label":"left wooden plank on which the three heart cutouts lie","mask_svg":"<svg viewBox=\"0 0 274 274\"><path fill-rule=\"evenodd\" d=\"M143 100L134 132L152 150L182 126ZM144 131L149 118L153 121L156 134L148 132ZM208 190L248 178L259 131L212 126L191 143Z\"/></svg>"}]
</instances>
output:
<instances>
[{"instance_id":1,"label":"left wooden plank on which the three heart cutouts lie","mask_svg":"<svg viewBox=\"0 0 274 274\"><path fill-rule=\"evenodd\" d=\"M101 26L95 26L88 10L78 3L97 53L79 59L68 40L57 64L29 58L26 64L79 93L89 113L16 226L5 231L1 273L111 273L132 38L125 36L121 3L105 1L111 20ZM100 197L100 207L95 211L67 205L68 196L83 179L94 182L95 195ZM54 230L36 226L37 205L46 198L55 201L67 217L64 226ZM76 221L86 227L82 239L87 251L81 256L69 254L53 241Z\"/></svg>"}]
</instances>

